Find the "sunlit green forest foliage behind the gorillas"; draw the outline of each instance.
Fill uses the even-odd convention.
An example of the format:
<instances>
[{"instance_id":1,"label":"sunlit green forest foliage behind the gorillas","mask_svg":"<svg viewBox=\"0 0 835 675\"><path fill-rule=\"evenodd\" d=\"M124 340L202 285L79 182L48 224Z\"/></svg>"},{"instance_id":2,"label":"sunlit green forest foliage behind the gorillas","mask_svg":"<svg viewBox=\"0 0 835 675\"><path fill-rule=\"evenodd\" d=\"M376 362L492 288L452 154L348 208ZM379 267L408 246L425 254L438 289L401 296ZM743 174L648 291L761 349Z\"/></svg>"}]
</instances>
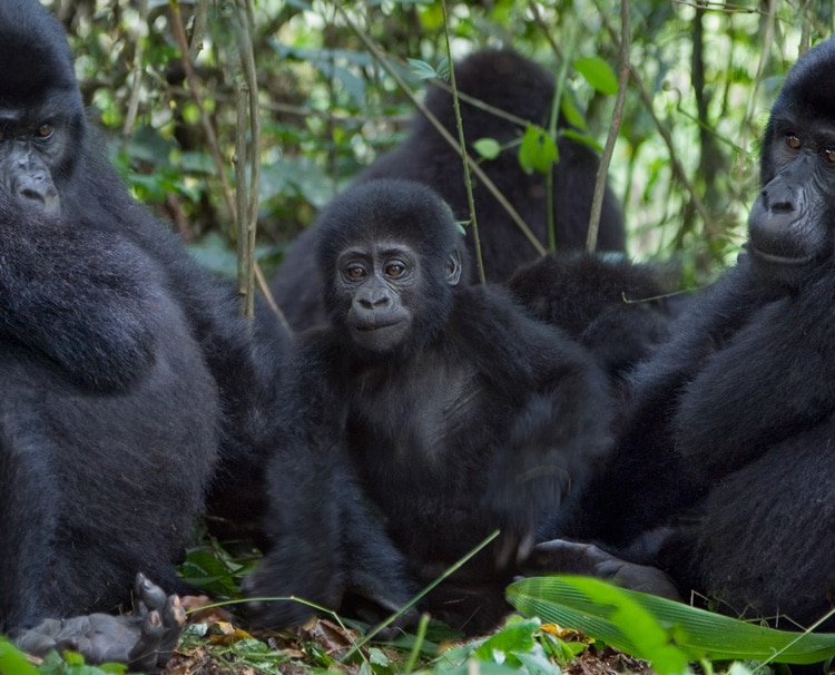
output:
<instances>
[{"instance_id":1,"label":"sunlit green forest foliage behind the gorillas","mask_svg":"<svg viewBox=\"0 0 835 675\"><path fill-rule=\"evenodd\" d=\"M232 215L196 101L199 95L225 162L223 173L230 177L242 81L229 28L236 0L180 0L174 2L177 16L163 0L51 4L72 36L86 98L136 193L187 238L214 232L229 242ZM611 21L619 3L448 4L453 58L507 45L554 74L559 62L570 63L562 113L580 126L582 138L602 145L612 71L619 67L620 28ZM832 32L833 2L777 2L772 13L756 3L667 0L635 0L630 9L633 77L610 179L622 196L630 252L675 256L688 283L696 283L733 261L744 239L757 189L756 138L768 105L802 42ZM177 21L194 40L198 91L186 78L173 30ZM263 255L279 254L335 190L403 137L413 107L355 31L419 92L421 78L442 75L448 57L442 26L440 3L428 0L255 3ZM418 75L410 63L420 65ZM525 138L537 134L529 129ZM528 157L532 146L523 145ZM532 169L558 160L544 145L548 155L525 159Z\"/></svg>"}]
</instances>

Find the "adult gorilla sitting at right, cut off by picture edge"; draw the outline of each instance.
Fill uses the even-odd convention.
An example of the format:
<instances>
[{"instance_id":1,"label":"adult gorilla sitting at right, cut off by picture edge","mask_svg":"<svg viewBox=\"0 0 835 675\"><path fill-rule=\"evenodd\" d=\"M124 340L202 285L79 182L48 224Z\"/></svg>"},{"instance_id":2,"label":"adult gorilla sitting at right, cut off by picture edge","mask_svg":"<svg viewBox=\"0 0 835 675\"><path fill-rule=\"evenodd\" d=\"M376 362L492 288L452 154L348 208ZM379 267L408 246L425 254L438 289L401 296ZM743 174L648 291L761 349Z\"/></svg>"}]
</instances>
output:
<instances>
[{"instance_id":1,"label":"adult gorilla sitting at right, cut off by picture edge","mask_svg":"<svg viewBox=\"0 0 835 675\"><path fill-rule=\"evenodd\" d=\"M811 625L835 597L833 75L835 39L790 70L746 251L639 371L613 462L552 530L782 627ZM571 547L542 545L536 566Z\"/></svg>"}]
</instances>

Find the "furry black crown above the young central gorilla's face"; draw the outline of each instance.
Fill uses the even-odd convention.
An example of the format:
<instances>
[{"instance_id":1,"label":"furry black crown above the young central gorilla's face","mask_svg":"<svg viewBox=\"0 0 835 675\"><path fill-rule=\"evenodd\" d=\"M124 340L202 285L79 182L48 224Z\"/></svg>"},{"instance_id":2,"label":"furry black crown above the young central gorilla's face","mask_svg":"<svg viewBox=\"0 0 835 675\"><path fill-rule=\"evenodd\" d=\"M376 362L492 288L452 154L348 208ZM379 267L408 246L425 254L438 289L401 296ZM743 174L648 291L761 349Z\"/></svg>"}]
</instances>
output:
<instances>
[{"instance_id":1,"label":"furry black crown above the young central gorilla's face","mask_svg":"<svg viewBox=\"0 0 835 675\"><path fill-rule=\"evenodd\" d=\"M405 242L433 261L463 252L452 211L431 188L411 180L372 180L331 202L320 219L317 257L330 267L352 244Z\"/></svg>"}]
</instances>

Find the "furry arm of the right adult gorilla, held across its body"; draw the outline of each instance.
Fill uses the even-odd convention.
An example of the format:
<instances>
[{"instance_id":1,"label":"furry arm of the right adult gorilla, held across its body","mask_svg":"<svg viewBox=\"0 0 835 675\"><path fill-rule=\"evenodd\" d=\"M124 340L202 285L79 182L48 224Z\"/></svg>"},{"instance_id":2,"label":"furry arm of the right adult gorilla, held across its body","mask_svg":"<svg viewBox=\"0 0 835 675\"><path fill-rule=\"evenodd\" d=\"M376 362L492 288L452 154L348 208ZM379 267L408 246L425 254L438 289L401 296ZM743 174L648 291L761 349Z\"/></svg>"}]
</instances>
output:
<instances>
[{"instance_id":1,"label":"furry arm of the right adult gorilla, held across its body","mask_svg":"<svg viewBox=\"0 0 835 675\"><path fill-rule=\"evenodd\" d=\"M679 451L698 478L718 480L756 459L766 441L780 440L831 414L832 278L831 264L823 265L803 293L787 293L760 307L689 385L676 423ZM723 414L728 409L733 415ZM729 452L713 450L718 439Z\"/></svg>"}]
</instances>

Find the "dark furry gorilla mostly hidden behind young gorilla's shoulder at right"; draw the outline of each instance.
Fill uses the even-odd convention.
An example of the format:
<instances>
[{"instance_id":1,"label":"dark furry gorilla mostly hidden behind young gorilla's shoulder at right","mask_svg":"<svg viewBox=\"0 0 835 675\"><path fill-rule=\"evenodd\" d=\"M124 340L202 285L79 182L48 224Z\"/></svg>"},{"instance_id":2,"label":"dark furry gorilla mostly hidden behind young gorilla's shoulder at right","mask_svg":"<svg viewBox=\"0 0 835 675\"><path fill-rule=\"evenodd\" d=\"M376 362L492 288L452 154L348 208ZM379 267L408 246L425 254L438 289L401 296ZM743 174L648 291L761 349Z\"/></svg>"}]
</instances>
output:
<instances>
[{"instance_id":1,"label":"dark furry gorilla mostly hidden behind young gorilla's shoulder at right","mask_svg":"<svg viewBox=\"0 0 835 675\"><path fill-rule=\"evenodd\" d=\"M662 276L616 254L558 252L523 265L507 285L537 319L586 345L619 384L669 339L681 311Z\"/></svg>"}]
</instances>

